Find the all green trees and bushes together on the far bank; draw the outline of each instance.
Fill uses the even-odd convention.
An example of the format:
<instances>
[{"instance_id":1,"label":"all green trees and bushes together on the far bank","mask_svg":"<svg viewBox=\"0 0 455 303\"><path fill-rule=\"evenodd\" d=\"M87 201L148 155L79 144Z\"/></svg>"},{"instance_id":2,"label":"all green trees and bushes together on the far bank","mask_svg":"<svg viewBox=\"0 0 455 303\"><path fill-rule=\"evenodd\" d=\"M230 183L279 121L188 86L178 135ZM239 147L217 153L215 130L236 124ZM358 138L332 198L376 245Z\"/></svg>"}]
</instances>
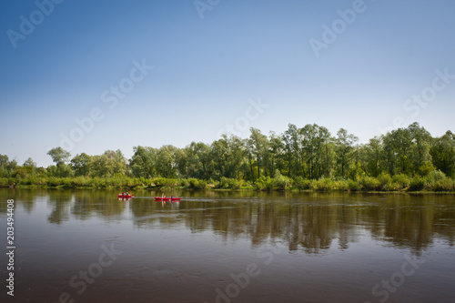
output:
<instances>
[{"instance_id":1,"label":"all green trees and bushes together on the far bank","mask_svg":"<svg viewBox=\"0 0 455 303\"><path fill-rule=\"evenodd\" d=\"M205 144L135 146L102 155L47 152L55 165L20 166L0 155L0 187L174 187L214 190L304 190L344 192L455 192L455 135L433 137L418 123L375 136L367 144L341 128L331 136L316 124L289 124L281 135L223 135Z\"/></svg>"}]
</instances>

